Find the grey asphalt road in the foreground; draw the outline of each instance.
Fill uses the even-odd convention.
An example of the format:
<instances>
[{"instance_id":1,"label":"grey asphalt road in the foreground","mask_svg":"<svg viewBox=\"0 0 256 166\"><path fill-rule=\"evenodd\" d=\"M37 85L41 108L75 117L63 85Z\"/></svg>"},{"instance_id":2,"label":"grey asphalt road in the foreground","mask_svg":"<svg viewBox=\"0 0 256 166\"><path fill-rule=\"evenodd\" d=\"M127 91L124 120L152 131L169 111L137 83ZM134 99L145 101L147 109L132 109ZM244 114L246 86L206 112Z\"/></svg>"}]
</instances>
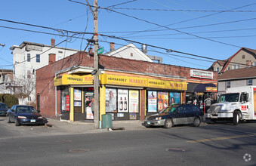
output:
<instances>
[{"instance_id":1,"label":"grey asphalt road in the foreground","mask_svg":"<svg viewBox=\"0 0 256 166\"><path fill-rule=\"evenodd\" d=\"M256 121L88 134L39 126L37 134L3 119L0 165L256 165Z\"/></svg>"}]
</instances>

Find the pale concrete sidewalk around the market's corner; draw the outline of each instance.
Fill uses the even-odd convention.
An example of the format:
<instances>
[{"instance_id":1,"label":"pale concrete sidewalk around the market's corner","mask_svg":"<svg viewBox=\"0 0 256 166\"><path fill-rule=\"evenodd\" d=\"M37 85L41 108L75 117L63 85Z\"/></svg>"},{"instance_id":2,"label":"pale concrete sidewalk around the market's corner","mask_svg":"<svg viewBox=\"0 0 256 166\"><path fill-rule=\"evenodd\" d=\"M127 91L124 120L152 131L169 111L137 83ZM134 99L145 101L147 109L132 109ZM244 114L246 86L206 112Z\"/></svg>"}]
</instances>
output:
<instances>
[{"instance_id":1,"label":"pale concrete sidewalk around the market's corner","mask_svg":"<svg viewBox=\"0 0 256 166\"><path fill-rule=\"evenodd\" d=\"M94 128L93 121L65 121L54 118L47 118L48 123L46 127L52 128L54 131L66 132L66 133L92 133L109 131L108 128ZM143 121L112 121L113 131L134 131L143 130L145 127L142 125ZM111 131L111 130L110 130Z\"/></svg>"}]
</instances>

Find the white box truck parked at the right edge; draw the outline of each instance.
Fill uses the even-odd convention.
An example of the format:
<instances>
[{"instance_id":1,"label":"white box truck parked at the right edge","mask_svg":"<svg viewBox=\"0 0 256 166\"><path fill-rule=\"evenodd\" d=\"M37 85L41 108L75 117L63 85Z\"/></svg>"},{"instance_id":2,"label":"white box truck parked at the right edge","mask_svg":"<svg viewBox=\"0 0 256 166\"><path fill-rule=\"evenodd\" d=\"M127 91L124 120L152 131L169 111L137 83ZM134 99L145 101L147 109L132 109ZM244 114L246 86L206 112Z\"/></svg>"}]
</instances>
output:
<instances>
[{"instance_id":1,"label":"white box truck parked at the right edge","mask_svg":"<svg viewBox=\"0 0 256 166\"><path fill-rule=\"evenodd\" d=\"M256 86L227 88L220 94L218 103L210 106L205 113L206 121L230 119L233 124L239 120L256 120Z\"/></svg>"}]
</instances>

